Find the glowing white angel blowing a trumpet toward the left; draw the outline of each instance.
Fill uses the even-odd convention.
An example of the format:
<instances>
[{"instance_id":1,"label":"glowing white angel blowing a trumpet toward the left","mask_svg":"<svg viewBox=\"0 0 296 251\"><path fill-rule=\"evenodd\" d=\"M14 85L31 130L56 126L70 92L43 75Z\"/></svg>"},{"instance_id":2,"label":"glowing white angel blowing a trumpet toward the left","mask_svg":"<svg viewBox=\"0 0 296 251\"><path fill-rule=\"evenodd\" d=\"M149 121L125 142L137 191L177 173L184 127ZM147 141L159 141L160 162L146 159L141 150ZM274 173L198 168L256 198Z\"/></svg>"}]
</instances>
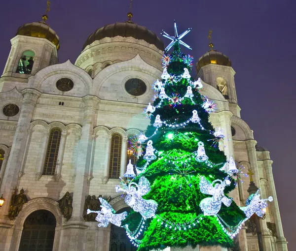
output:
<instances>
[{"instance_id":1,"label":"glowing white angel blowing a trumpet toward the left","mask_svg":"<svg viewBox=\"0 0 296 251\"><path fill-rule=\"evenodd\" d=\"M104 200L103 198L99 198L100 202L101 202L101 211L92 211L87 209L87 214L90 213L96 213L98 214L96 217L96 220L99 222L98 226L99 227L107 227L109 222L111 222L112 224L116 225L116 226L120 226L121 225L121 221L125 219L125 217L127 216L127 212L123 212L121 214L114 214L115 210L111 207L111 205Z\"/></svg>"}]
</instances>

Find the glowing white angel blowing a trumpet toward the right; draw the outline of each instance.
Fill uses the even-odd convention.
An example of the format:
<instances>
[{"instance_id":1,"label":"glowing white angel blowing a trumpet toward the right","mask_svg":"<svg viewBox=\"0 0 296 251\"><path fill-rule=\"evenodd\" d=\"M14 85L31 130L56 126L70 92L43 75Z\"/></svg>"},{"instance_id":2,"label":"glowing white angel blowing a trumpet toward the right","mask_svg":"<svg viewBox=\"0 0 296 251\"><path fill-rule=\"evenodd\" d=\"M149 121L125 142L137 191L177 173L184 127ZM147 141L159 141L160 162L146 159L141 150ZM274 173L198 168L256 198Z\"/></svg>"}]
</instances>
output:
<instances>
[{"instance_id":1,"label":"glowing white angel blowing a trumpet toward the right","mask_svg":"<svg viewBox=\"0 0 296 251\"><path fill-rule=\"evenodd\" d=\"M260 199L259 190L256 193L251 194L251 196L246 200L246 207L240 207L240 209L245 213L246 217L249 219L254 213L259 217L265 215L265 208L268 206L266 201L273 201L271 196L268 199Z\"/></svg>"}]
</instances>

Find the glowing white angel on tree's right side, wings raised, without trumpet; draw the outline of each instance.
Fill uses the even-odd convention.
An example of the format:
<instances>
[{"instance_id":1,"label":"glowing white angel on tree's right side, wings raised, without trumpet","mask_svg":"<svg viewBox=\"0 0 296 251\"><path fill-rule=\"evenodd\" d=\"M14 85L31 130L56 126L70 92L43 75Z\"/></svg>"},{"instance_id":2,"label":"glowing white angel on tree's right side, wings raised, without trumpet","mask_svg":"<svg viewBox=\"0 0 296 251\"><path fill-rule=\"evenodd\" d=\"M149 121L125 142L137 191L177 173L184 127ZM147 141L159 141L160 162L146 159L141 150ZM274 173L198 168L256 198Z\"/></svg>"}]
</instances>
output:
<instances>
[{"instance_id":1,"label":"glowing white angel on tree's right side, wings raised, without trumpet","mask_svg":"<svg viewBox=\"0 0 296 251\"><path fill-rule=\"evenodd\" d=\"M216 185L213 187L215 183ZM224 195L224 188L229 186L230 183L231 182L228 180L228 177L226 177L224 181L215 180L212 183L210 183L204 176L201 177L199 183L200 191L204 194L213 195L211 198L203 199L199 204L199 207L203 211L204 215L217 215L221 209L222 203L226 207L230 206L232 200Z\"/></svg>"}]
</instances>

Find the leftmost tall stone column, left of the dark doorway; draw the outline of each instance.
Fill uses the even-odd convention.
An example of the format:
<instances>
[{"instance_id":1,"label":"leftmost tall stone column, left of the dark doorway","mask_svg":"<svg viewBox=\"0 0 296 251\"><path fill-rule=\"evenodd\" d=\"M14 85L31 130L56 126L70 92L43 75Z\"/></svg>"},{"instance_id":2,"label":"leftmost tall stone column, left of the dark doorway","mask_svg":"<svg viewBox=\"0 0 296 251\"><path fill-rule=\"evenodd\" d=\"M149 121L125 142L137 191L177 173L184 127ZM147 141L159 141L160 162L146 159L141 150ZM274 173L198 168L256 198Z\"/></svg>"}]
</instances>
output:
<instances>
[{"instance_id":1,"label":"leftmost tall stone column, left of the dark doorway","mask_svg":"<svg viewBox=\"0 0 296 251\"><path fill-rule=\"evenodd\" d=\"M14 134L10 156L7 161L7 171L4 173L3 182L0 189L3 193L3 197L6 199L6 203L4 203L0 210L0 223L6 222L10 224L10 220L7 217L9 202L14 188L17 186L18 173L25 151L30 124L33 118L37 100L41 93L35 89L26 88L22 90L22 94L24 98L20 111L20 117Z\"/></svg>"}]
</instances>

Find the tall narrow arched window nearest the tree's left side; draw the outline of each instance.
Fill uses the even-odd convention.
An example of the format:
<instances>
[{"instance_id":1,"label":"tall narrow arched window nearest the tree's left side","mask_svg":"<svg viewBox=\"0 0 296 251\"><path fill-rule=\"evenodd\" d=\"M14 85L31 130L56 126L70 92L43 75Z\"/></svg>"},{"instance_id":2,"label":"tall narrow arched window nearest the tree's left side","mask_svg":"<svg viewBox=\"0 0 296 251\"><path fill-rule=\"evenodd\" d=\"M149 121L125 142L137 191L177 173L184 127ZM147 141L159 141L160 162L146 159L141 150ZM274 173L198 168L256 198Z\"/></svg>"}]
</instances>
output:
<instances>
[{"instance_id":1,"label":"tall narrow arched window nearest the tree's left side","mask_svg":"<svg viewBox=\"0 0 296 251\"><path fill-rule=\"evenodd\" d=\"M118 179L120 176L121 147L122 136L116 132L111 137L109 179Z\"/></svg>"}]
</instances>

